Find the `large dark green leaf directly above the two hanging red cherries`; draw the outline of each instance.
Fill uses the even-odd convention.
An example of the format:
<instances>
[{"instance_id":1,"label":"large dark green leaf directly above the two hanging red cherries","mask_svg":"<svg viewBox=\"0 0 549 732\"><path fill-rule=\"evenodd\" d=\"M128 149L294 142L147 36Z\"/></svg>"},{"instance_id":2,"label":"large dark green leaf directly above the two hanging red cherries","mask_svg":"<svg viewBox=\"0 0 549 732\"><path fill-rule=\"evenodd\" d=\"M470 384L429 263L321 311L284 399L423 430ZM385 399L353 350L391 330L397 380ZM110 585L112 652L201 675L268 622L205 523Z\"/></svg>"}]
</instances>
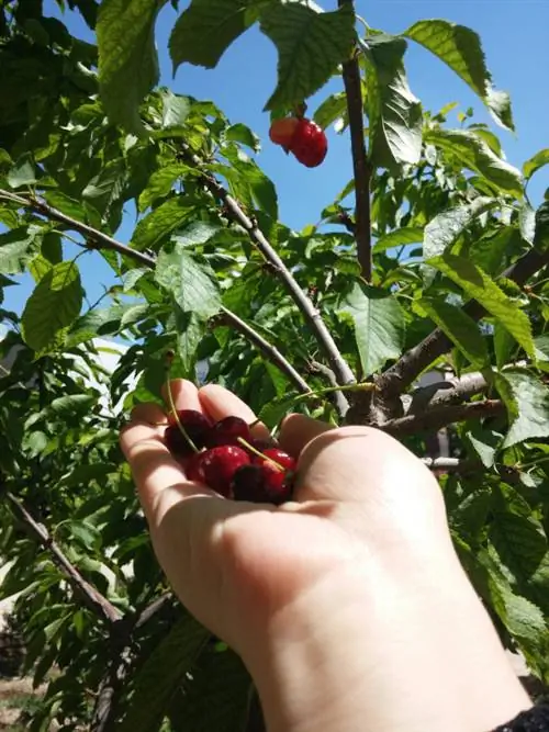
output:
<instances>
[{"instance_id":1,"label":"large dark green leaf directly above the two hanging red cherries","mask_svg":"<svg viewBox=\"0 0 549 732\"><path fill-rule=\"evenodd\" d=\"M350 4L329 13L296 2L269 5L261 31L278 50L278 82L265 110L291 109L323 87L356 41Z\"/></svg>"}]
</instances>

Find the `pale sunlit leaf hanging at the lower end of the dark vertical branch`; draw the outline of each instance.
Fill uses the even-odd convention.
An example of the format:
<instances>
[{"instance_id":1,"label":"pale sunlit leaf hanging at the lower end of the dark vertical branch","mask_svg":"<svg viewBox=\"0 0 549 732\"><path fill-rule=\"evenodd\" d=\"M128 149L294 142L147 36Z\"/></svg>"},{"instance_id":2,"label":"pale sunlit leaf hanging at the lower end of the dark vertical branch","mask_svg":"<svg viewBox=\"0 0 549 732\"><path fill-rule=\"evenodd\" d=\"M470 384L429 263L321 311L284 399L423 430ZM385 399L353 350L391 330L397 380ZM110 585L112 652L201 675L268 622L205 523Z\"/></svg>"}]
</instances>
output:
<instances>
[{"instance_id":1,"label":"pale sunlit leaf hanging at the lower end of the dark vertical branch","mask_svg":"<svg viewBox=\"0 0 549 732\"><path fill-rule=\"evenodd\" d=\"M384 290L356 283L339 305L350 315L365 374L378 371L404 347L404 313Z\"/></svg>"}]
</instances>

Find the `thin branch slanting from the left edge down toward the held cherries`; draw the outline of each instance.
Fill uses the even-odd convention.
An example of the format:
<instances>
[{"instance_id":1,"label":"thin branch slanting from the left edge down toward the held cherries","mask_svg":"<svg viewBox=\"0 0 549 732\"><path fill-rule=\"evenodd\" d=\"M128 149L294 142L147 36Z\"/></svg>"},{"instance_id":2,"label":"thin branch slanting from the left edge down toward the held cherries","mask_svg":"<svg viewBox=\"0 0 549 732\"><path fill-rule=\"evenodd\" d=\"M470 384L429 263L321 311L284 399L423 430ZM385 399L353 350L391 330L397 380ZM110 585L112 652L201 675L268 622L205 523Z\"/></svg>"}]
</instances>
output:
<instances>
[{"instance_id":1,"label":"thin branch slanting from the left edge down toward the held cherries","mask_svg":"<svg viewBox=\"0 0 549 732\"><path fill-rule=\"evenodd\" d=\"M117 241L116 239L113 239L110 236L107 236L107 234L98 232L91 226L82 224L82 222L79 222L76 218L71 218L70 216L67 216L60 211L57 211L57 209L54 209L53 206L45 203L45 201L41 201L36 198L25 199L21 195L16 195L14 193L3 190L0 190L0 199L1 198L4 198L8 201L12 201L13 203L16 203L18 205L24 209L30 209L31 211L40 213L46 216L47 218L51 218L52 221L57 221L74 232L78 232L82 236L86 236L88 240L92 241L97 249L110 249L113 251L117 251L120 255L128 257L130 259L139 262L139 264L144 264L145 267L148 267L150 269L154 269L156 266L156 260L154 257L150 257L149 255L146 255L142 251L137 251L137 249L132 249L127 245L122 244L121 241ZM242 320L235 313L233 313L228 308L222 306L221 312L223 313L227 323L232 327L234 327L235 330L238 330L239 333L245 335L246 338L251 344L254 344L254 346L256 346L258 350L265 353L267 358L276 367L278 367L280 371L282 371L282 373L284 373L290 379L290 381L292 381L295 384L295 386L302 394L311 392L311 388L307 386L304 379L295 371L292 364L282 356L282 353L274 346L271 346L271 344L269 344L262 336L260 336L256 330L254 330L251 326L244 323L244 320Z\"/></svg>"}]
</instances>

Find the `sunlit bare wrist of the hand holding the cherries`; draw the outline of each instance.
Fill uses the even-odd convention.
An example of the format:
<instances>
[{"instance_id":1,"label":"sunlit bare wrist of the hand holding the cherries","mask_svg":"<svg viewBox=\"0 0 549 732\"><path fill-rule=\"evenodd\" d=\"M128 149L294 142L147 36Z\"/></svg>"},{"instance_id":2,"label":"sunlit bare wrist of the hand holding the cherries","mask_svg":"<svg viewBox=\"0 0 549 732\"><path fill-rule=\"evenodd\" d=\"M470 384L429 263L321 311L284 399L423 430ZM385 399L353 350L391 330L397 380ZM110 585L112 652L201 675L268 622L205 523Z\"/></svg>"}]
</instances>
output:
<instances>
[{"instance_id":1,"label":"sunlit bare wrist of the hand holding the cherries","mask_svg":"<svg viewBox=\"0 0 549 732\"><path fill-rule=\"evenodd\" d=\"M248 653L269 732L488 732L530 706L457 559L368 574L326 578Z\"/></svg>"}]
</instances>

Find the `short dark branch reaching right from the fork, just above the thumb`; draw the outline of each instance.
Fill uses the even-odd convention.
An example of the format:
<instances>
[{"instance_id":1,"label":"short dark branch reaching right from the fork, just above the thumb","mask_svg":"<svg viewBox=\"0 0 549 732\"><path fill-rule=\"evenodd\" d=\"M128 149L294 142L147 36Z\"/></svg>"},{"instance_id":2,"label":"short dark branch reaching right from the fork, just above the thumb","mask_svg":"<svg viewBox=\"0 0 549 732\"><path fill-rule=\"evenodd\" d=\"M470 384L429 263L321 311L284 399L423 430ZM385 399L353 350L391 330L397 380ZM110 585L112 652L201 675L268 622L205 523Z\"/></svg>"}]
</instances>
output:
<instances>
[{"instance_id":1,"label":"short dark branch reaching right from the fork, just above the thumb","mask_svg":"<svg viewBox=\"0 0 549 732\"><path fill-rule=\"evenodd\" d=\"M403 437L437 430L457 421L482 419L483 417L495 417L503 414L505 414L503 402L500 399L484 399L470 404L432 407L422 414L389 419L389 421L378 425L378 428L394 437Z\"/></svg>"}]
</instances>

